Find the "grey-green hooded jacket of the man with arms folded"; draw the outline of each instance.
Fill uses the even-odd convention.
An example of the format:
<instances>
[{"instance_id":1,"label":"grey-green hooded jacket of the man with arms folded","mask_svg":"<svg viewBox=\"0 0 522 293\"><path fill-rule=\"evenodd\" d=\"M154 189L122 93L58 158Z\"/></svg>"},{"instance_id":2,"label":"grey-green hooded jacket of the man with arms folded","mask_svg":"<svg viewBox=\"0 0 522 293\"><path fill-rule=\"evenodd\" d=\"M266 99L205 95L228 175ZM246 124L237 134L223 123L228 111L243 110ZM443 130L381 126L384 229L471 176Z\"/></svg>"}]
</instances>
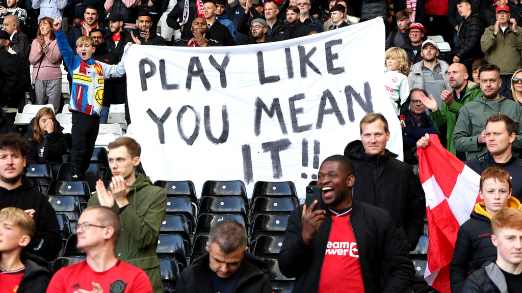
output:
<instances>
[{"instance_id":1,"label":"grey-green hooded jacket of the man with arms folded","mask_svg":"<svg viewBox=\"0 0 522 293\"><path fill-rule=\"evenodd\" d=\"M512 149L516 155L522 148L522 106L517 102L500 96L497 100L488 100L478 96L460 110L457 124L455 125L455 139L453 143L458 152L468 152L468 160L481 158L488 153L485 143L479 143L478 137L486 127L486 119L493 114L504 114L515 121L517 136Z\"/></svg>"}]
</instances>

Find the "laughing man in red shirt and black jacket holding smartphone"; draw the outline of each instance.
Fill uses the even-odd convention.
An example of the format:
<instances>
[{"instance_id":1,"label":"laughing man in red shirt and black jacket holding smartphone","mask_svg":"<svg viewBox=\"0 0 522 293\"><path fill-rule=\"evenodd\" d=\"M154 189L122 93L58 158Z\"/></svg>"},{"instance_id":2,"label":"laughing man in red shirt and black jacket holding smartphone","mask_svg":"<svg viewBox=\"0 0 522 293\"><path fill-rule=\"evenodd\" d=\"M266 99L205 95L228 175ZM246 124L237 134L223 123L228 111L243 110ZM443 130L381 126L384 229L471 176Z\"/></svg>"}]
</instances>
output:
<instances>
[{"instance_id":1,"label":"laughing man in red shirt and black jacket holding smartphone","mask_svg":"<svg viewBox=\"0 0 522 293\"><path fill-rule=\"evenodd\" d=\"M317 200L292 211L278 257L294 292L405 292L415 271L389 213L352 200L354 166L334 155L319 168ZM383 262L389 277L382 287Z\"/></svg>"}]
</instances>

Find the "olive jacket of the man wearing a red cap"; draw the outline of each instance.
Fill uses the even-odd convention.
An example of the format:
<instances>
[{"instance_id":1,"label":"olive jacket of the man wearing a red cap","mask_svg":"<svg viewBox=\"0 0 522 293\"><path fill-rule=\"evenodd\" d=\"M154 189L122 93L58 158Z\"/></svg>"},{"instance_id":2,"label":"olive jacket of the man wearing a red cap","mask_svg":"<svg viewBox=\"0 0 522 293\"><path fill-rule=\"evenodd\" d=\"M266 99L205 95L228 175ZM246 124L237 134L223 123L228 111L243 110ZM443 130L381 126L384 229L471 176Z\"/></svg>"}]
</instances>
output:
<instances>
[{"instance_id":1,"label":"olive jacket of the man wearing a red cap","mask_svg":"<svg viewBox=\"0 0 522 293\"><path fill-rule=\"evenodd\" d=\"M512 75L522 67L522 58L520 51L522 50L522 28L517 27L517 32L511 30L511 26L506 28L502 33L494 35L495 26L486 28L482 38L480 38L480 47L482 52L489 54L489 62L500 67L501 75Z\"/></svg>"}]
</instances>

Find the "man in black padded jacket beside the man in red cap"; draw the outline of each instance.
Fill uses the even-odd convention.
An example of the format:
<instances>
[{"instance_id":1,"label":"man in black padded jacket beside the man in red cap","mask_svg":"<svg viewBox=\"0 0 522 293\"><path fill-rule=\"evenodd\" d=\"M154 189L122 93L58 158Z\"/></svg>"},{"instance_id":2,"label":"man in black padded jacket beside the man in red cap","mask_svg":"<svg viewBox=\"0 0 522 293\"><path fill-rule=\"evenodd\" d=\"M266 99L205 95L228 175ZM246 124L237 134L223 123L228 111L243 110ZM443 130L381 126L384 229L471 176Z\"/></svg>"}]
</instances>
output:
<instances>
[{"instance_id":1,"label":"man in black padded jacket beside the man in red cap","mask_svg":"<svg viewBox=\"0 0 522 293\"><path fill-rule=\"evenodd\" d=\"M462 63L468 70L468 75L473 75L471 65L475 60L483 58L484 53L480 47L480 38L484 33L484 21L479 14L471 14L471 0L458 0L457 9L464 18L459 23L457 31L457 43L455 48L454 63Z\"/></svg>"}]
</instances>

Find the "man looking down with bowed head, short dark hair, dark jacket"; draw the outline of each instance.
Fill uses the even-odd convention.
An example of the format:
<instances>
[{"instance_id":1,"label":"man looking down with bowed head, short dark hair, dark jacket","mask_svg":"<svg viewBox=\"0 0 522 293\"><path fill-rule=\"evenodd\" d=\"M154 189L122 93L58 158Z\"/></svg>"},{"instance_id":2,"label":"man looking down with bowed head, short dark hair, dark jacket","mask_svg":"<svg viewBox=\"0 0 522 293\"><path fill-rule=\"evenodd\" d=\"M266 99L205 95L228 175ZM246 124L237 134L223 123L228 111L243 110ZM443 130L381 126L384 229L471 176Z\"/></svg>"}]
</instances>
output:
<instances>
[{"instance_id":1,"label":"man looking down with bowed head, short dark hair, dark jacket","mask_svg":"<svg viewBox=\"0 0 522 293\"><path fill-rule=\"evenodd\" d=\"M248 253L246 230L233 219L210 229L208 252L185 268L175 292L272 292L268 264Z\"/></svg>"}]
</instances>

